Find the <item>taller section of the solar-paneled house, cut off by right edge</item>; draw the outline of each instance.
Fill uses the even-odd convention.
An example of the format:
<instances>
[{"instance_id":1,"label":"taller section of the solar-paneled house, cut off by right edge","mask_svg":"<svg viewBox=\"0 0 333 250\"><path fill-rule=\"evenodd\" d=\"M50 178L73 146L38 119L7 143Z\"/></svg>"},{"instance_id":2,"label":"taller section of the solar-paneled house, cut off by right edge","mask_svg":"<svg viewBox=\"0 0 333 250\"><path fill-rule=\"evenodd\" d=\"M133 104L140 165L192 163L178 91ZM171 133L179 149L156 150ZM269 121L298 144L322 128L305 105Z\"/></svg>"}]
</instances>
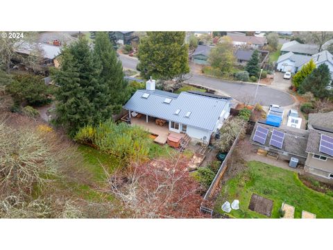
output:
<instances>
[{"instance_id":1,"label":"taller section of the solar-paneled house, cut off by right edge","mask_svg":"<svg viewBox=\"0 0 333 250\"><path fill-rule=\"evenodd\" d=\"M305 172L333 179L333 111L309 114Z\"/></svg>"}]
</instances>

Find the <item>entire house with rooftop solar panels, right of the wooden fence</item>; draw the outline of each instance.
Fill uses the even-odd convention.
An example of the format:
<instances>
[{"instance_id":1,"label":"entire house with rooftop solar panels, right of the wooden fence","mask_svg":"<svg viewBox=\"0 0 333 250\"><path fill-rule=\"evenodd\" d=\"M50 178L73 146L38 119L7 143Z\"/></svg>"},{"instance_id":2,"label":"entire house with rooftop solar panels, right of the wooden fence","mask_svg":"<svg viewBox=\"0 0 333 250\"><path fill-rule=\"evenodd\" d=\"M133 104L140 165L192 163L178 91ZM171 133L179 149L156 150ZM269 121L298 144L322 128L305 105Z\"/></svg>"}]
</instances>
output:
<instances>
[{"instance_id":1,"label":"entire house with rooftop solar panels, right of the wooden fence","mask_svg":"<svg viewBox=\"0 0 333 250\"><path fill-rule=\"evenodd\" d=\"M333 111L309 114L307 130L257 122L250 142L282 160L304 165L306 173L322 181L333 182Z\"/></svg>"}]
</instances>

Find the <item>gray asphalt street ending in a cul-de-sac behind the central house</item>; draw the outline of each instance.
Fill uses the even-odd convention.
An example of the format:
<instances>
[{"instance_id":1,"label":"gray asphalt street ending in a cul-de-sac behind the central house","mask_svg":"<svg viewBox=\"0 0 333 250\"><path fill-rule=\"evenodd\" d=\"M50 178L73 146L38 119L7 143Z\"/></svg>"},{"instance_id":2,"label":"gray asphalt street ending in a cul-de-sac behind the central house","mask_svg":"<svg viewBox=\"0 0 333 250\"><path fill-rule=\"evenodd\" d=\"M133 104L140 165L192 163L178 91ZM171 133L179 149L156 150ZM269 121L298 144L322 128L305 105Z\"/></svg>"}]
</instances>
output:
<instances>
[{"instance_id":1,"label":"gray asphalt street ending in a cul-de-sac behind the central house","mask_svg":"<svg viewBox=\"0 0 333 250\"><path fill-rule=\"evenodd\" d=\"M124 68L136 69L138 63L137 58L120 55L119 60L123 63ZM200 75L197 72L191 72L190 75L191 78L189 78L187 83L224 92L230 95L230 97L237 99L237 101L250 104L260 103L262 106L268 106L271 103L280 106L290 106L294 103L293 97L279 88L259 86L257 98L254 100L257 85L223 81L221 79Z\"/></svg>"}]
</instances>

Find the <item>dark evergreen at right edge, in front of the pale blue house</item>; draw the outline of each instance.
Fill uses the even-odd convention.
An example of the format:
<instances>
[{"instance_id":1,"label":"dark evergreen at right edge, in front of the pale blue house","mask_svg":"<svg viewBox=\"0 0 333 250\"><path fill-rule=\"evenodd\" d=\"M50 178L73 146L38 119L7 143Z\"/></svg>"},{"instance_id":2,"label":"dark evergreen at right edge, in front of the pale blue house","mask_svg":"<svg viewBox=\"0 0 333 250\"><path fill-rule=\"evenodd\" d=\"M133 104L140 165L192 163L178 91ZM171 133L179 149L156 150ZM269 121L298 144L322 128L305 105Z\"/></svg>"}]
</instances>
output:
<instances>
[{"instance_id":1,"label":"dark evergreen at right edge, in front of the pale blue house","mask_svg":"<svg viewBox=\"0 0 333 250\"><path fill-rule=\"evenodd\" d=\"M326 90L326 87L332 81L330 75L330 69L323 63L314 69L307 78L300 85L298 92L300 94L305 94L305 92L312 92L314 97L324 99L327 97L332 97L332 93Z\"/></svg>"}]
</instances>

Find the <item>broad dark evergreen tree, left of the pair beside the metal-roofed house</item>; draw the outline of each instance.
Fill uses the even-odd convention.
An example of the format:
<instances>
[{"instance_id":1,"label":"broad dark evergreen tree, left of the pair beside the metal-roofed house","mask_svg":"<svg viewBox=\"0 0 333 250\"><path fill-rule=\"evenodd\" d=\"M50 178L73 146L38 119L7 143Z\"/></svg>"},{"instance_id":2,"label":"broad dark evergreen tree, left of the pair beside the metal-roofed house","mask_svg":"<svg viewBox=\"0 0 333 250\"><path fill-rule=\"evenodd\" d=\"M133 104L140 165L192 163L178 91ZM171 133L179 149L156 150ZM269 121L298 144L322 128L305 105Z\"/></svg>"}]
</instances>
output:
<instances>
[{"instance_id":1,"label":"broad dark evergreen tree, left of the pair beside the metal-roofed house","mask_svg":"<svg viewBox=\"0 0 333 250\"><path fill-rule=\"evenodd\" d=\"M99 82L101 64L95 62L87 40L80 38L65 47L60 66L52 72L60 85L56 93L56 122L73 136L80 127L108 119L112 113L108 88Z\"/></svg>"}]
</instances>

